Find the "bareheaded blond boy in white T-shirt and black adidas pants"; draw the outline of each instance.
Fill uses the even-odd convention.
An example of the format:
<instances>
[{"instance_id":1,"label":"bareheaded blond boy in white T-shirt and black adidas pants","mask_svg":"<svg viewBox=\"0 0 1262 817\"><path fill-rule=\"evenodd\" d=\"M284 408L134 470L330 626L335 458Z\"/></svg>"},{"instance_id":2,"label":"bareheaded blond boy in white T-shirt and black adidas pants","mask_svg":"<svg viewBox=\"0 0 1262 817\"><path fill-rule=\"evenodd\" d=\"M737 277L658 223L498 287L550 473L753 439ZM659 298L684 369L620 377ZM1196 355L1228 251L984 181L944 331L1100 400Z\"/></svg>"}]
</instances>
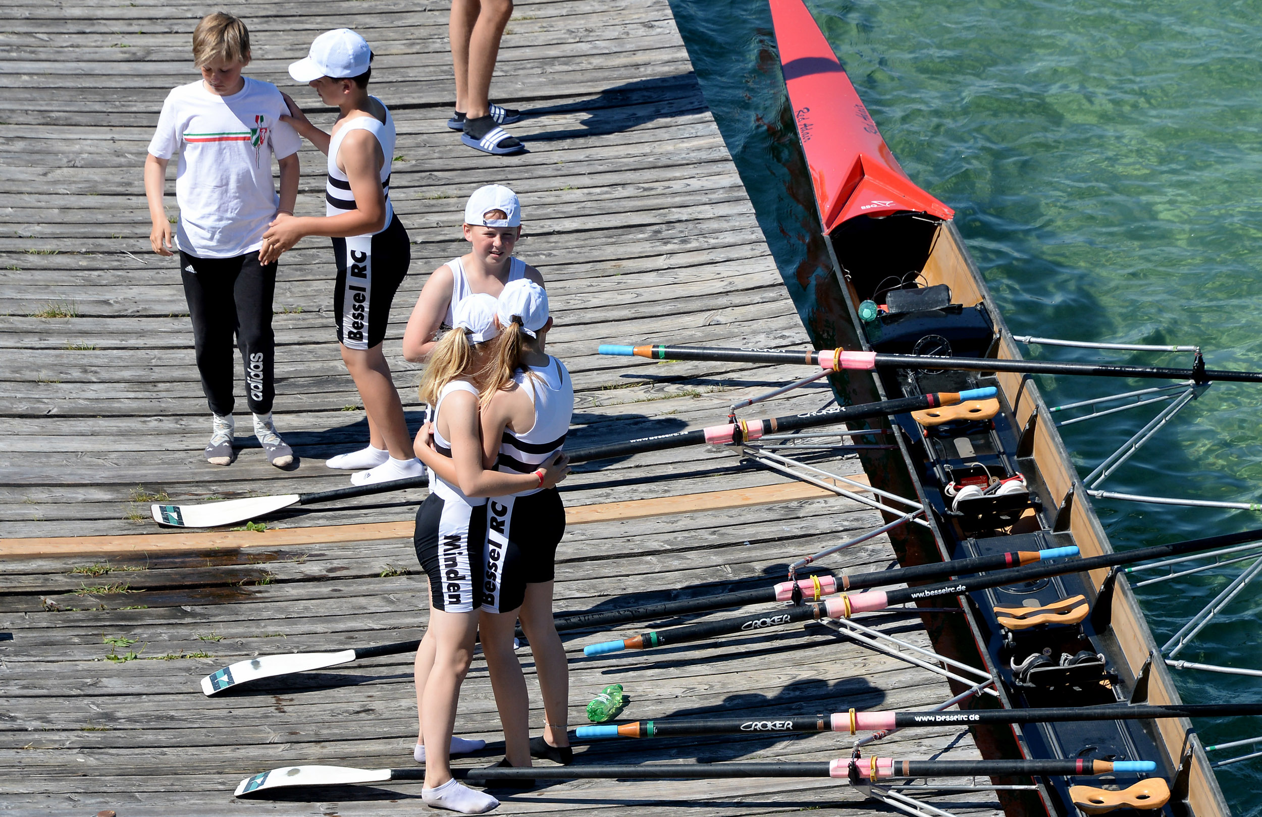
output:
<instances>
[{"instance_id":1,"label":"bareheaded blond boy in white T-shirt and black adidas pants","mask_svg":"<svg viewBox=\"0 0 1262 817\"><path fill-rule=\"evenodd\" d=\"M158 255L172 255L163 195L167 163L179 153L174 248L193 322L197 371L212 412L206 459L213 465L232 463L236 334L255 436L268 461L284 468L294 453L271 421L276 261L262 260L259 250L268 223L294 212L302 140L280 122L289 110L276 86L241 76L250 64L250 32L241 20L222 11L202 18L193 30L193 63L202 79L167 95L149 142L149 241ZM273 154L280 165L279 199L271 184Z\"/></svg>"}]
</instances>

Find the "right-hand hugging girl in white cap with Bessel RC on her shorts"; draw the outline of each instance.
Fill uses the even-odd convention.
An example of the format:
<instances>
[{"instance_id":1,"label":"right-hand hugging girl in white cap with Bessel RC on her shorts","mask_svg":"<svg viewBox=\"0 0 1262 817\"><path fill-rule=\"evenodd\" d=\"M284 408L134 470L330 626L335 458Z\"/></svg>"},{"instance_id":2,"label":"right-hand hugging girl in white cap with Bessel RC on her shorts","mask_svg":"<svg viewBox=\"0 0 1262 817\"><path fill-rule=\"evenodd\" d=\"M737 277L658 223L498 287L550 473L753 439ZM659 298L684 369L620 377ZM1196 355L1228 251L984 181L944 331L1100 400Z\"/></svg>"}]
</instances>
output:
<instances>
[{"instance_id":1,"label":"right-hand hugging girl in white cap with Bessel RC on her shorts","mask_svg":"<svg viewBox=\"0 0 1262 817\"><path fill-rule=\"evenodd\" d=\"M553 624L554 561L565 532L565 508L549 469L565 463L560 449L574 390L565 366L544 351L553 322L541 286L528 280L506 284L496 325L500 335L486 353L481 378L482 455L495 470L457 479L467 494L490 497L478 630L504 724L504 763L526 767L534 756L565 764L573 760L567 739L569 671ZM422 459L433 456L422 443L418 437ZM448 473L454 475L454 469ZM492 480L502 479L533 482L512 493L491 488ZM526 685L512 647L519 619L544 697L544 734L534 739Z\"/></svg>"}]
</instances>

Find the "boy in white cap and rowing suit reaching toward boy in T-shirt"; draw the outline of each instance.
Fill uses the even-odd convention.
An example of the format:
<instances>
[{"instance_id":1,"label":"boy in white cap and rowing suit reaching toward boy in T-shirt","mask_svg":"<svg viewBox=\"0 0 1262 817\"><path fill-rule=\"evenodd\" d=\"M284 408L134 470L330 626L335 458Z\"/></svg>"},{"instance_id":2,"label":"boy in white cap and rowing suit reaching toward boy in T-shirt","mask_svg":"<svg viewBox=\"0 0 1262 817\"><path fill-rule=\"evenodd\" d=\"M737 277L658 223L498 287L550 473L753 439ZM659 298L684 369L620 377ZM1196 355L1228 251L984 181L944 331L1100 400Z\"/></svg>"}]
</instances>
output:
<instances>
[{"instance_id":1,"label":"boy in white cap and rowing suit reaching toward boy in T-shirt","mask_svg":"<svg viewBox=\"0 0 1262 817\"><path fill-rule=\"evenodd\" d=\"M333 240L337 287L333 311L342 361L355 380L369 417L370 445L384 456L351 477L369 485L424 473L411 449L403 402L381 351L390 304L411 262L408 232L390 203L390 163L395 126L381 100L369 96L372 50L350 29L326 32L289 76L305 82L339 115L332 134L312 125L288 97L286 121L328 155L328 202L323 218L279 216L264 235L265 257L276 257L304 236ZM334 458L336 459L336 458Z\"/></svg>"}]
</instances>

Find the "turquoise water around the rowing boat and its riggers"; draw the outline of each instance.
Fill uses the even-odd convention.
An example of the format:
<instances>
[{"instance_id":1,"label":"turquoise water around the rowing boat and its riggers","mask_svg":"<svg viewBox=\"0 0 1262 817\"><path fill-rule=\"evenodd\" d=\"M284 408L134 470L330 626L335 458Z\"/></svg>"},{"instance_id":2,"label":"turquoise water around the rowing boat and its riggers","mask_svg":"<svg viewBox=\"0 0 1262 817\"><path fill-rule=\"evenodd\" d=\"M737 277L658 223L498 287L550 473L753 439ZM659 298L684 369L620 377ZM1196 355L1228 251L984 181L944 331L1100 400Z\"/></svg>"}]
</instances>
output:
<instances>
[{"instance_id":1,"label":"turquoise water around the rowing boat and its riggers","mask_svg":"<svg viewBox=\"0 0 1262 817\"><path fill-rule=\"evenodd\" d=\"M837 289L814 237L767 6L673 4L785 282L819 333ZM904 169L955 208L1015 334L1200 344L1210 368L1262 369L1262 3L808 5ZM1190 364L1172 353L1029 356ZM1056 405L1153 383L1040 385ZM1262 499L1259 406L1262 385L1213 386L1100 487ZM1079 473L1157 408L1065 427ZM1095 504L1118 548L1262 527L1254 512ZM1239 569L1140 589L1157 643ZM1246 589L1180 657L1262 669L1259 596ZM1188 702L1262 700L1262 678L1171 672ZM1196 725L1206 744L1262 736L1262 719ZM1218 774L1237 814L1262 814L1262 759Z\"/></svg>"}]
</instances>

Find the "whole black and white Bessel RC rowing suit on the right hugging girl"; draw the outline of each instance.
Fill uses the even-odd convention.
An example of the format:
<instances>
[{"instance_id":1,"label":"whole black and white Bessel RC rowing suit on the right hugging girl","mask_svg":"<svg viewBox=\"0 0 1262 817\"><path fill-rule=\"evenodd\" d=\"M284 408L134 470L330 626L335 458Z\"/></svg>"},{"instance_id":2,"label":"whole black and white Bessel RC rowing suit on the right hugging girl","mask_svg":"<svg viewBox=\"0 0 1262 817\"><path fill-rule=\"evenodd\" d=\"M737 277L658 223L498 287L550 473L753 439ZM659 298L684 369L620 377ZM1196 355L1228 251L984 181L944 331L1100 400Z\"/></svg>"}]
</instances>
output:
<instances>
[{"instance_id":1,"label":"whole black and white Bessel RC rowing suit on the right hugging girl","mask_svg":"<svg viewBox=\"0 0 1262 817\"><path fill-rule=\"evenodd\" d=\"M496 469L529 474L564 445L574 414L574 386L557 358L549 358L548 366L519 371L512 380L530 395L535 424L525 432L505 430ZM551 581L557 545L564 533L565 506L555 488L488 499L482 609L515 610L528 584Z\"/></svg>"}]
</instances>

